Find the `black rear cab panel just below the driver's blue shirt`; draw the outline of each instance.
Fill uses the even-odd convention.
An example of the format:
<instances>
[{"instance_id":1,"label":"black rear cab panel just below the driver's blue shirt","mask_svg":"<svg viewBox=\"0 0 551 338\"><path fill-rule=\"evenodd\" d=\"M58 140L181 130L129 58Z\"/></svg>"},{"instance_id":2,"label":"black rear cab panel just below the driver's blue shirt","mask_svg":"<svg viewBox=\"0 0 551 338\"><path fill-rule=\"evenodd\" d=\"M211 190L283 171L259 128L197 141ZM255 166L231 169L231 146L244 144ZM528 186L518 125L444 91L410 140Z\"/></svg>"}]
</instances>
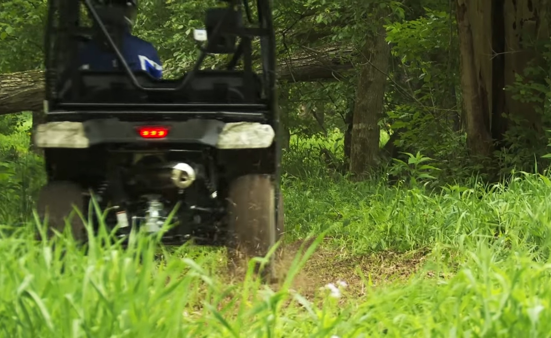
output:
<instances>
[{"instance_id":1,"label":"black rear cab panel just below the driver's blue shirt","mask_svg":"<svg viewBox=\"0 0 551 338\"><path fill-rule=\"evenodd\" d=\"M60 91L60 99L50 101L52 109L71 104L121 105L147 103L149 105L183 103L201 104L264 104L262 83L258 75L239 70L198 70L186 88L177 89L185 74L177 80L158 80L143 71L134 72L138 83L148 88L171 88L174 91L147 92L136 89L125 72L91 72L81 70L73 77L76 83L67 83ZM68 80L68 79L67 79Z\"/></svg>"}]
</instances>

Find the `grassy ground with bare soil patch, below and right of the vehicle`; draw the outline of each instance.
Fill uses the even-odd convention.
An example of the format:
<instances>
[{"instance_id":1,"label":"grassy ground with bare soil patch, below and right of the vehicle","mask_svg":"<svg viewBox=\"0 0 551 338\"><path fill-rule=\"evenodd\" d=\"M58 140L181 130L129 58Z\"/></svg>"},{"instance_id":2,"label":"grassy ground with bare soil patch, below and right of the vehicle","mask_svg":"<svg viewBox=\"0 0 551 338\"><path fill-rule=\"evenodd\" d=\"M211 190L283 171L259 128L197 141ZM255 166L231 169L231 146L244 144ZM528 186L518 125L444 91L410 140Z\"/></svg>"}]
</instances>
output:
<instances>
[{"instance_id":1,"label":"grassy ground with bare soil patch, below and right of the vehicle","mask_svg":"<svg viewBox=\"0 0 551 338\"><path fill-rule=\"evenodd\" d=\"M85 254L9 231L1 336L549 336L547 177L437 193L287 178L284 192L285 274L268 286L222 248L138 234L123 250L104 233Z\"/></svg>"}]
</instances>

